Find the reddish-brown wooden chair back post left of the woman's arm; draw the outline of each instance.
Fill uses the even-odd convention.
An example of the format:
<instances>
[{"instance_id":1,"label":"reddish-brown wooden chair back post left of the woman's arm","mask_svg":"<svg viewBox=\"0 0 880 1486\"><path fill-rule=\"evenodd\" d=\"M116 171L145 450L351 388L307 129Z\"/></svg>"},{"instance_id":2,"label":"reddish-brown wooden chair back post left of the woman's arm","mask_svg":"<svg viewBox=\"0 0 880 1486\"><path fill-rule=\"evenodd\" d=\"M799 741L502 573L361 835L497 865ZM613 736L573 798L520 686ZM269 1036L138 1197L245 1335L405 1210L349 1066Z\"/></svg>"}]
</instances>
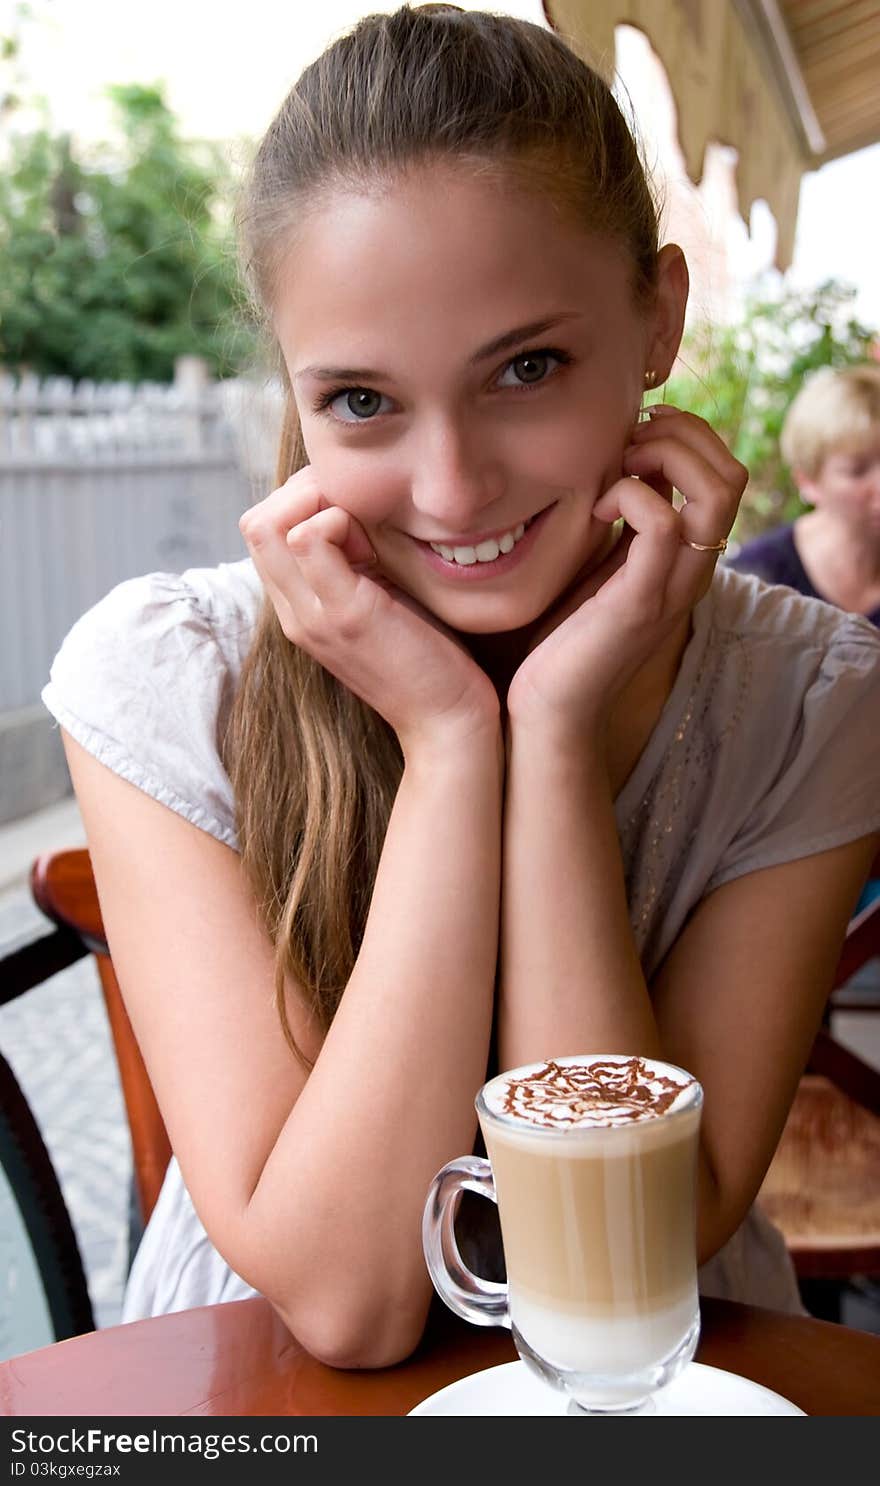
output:
<instances>
[{"instance_id":1,"label":"reddish-brown wooden chair back post left of the woman's arm","mask_svg":"<svg viewBox=\"0 0 880 1486\"><path fill-rule=\"evenodd\" d=\"M31 868L31 892L46 917L71 929L95 955L128 1113L140 1217L146 1223L159 1196L171 1143L110 961L88 850L39 856Z\"/></svg>"}]
</instances>

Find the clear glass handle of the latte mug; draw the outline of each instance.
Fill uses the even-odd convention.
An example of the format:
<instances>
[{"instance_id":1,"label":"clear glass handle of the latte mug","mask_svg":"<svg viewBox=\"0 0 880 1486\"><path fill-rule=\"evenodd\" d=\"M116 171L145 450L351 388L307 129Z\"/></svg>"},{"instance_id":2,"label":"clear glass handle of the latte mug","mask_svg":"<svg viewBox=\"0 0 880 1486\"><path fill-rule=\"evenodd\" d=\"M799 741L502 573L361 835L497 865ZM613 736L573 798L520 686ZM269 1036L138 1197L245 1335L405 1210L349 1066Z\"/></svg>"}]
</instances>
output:
<instances>
[{"instance_id":1,"label":"clear glass handle of the latte mug","mask_svg":"<svg viewBox=\"0 0 880 1486\"><path fill-rule=\"evenodd\" d=\"M464 1263L455 1239L458 1196L476 1192L498 1202L492 1167L483 1156L458 1156L434 1177L422 1214L422 1247L434 1288L450 1311L474 1326L507 1326L507 1285L482 1279Z\"/></svg>"}]
</instances>

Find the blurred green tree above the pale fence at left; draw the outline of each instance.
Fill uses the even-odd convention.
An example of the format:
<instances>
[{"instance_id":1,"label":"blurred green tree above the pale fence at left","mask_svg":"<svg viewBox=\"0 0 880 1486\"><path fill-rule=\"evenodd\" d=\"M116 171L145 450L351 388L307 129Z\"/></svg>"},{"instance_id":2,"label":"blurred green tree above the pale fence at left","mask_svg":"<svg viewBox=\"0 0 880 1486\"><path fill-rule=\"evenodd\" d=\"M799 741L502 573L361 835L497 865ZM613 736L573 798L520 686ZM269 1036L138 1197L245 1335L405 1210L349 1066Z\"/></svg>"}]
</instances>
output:
<instances>
[{"instance_id":1,"label":"blurred green tree above the pale fence at left","mask_svg":"<svg viewBox=\"0 0 880 1486\"><path fill-rule=\"evenodd\" d=\"M40 376L165 382L253 357L238 288L232 171L180 140L159 88L109 89L122 132L82 159L48 129L12 140L0 177L0 363Z\"/></svg>"}]
</instances>

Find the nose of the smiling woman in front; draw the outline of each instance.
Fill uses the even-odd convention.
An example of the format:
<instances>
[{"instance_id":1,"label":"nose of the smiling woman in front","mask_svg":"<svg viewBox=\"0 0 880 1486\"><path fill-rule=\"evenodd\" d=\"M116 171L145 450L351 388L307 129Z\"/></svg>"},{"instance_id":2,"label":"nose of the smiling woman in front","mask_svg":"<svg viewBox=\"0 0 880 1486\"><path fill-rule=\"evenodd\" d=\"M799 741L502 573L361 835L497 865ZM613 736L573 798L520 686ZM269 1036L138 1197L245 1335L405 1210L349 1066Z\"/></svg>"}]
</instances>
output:
<instances>
[{"instance_id":1,"label":"nose of the smiling woman in front","mask_svg":"<svg viewBox=\"0 0 880 1486\"><path fill-rule=\"evenodd\" d=\"M485 431L443 418L413 441L412 504L431 535L458 536L491 526L483 513L502 493L501 461Z\"/></svg>"}]
</instances>

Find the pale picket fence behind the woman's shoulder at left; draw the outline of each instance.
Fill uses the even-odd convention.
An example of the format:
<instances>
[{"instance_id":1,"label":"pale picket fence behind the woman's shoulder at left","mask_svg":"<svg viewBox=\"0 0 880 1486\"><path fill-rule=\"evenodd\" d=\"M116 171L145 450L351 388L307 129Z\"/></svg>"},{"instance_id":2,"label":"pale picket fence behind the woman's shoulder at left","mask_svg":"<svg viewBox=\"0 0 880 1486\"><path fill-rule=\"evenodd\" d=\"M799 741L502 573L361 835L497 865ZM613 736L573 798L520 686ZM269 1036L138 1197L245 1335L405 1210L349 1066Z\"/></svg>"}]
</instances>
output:
<instances>
[{"instance_id":1,"label":"pale picket fence behind the woman's shoulder at left","mask_svg":"<svg viewBox=\"0 0 880 1486\"><path fill-rule=\"evenodd\" d=\"M64 792L58 749L51 765L33 749L73 621L123 578L245 556L238 517L272 486L279 412L272 383L208 382L192 358L171 386L0 373L0 820ZM46 767L55 783L24 777Z\"/></svg>"}]
</instances>

